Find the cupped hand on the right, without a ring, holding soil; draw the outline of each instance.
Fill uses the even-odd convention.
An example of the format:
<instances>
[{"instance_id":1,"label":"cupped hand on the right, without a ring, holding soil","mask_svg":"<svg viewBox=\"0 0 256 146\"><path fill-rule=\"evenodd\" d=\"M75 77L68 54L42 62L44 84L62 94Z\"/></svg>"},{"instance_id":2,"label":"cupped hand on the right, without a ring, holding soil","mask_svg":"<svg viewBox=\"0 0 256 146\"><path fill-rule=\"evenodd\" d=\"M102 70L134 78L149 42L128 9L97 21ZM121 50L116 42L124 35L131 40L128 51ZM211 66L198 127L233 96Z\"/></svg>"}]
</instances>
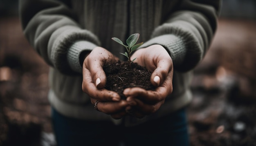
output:
<instances>
[{"instance_id":1,"label":"cupped hand on the right, without a ring, holding soil","mask_svg":"<svg viewBox=\"0 0 256 146\"><path fill-rule=\"evenodd\" d=\"M137 57L135 62L145 66L152 73L150 81L157 86L155 91L146 91L139 87L124 90L129 104L126 111L135 117L142 118L155 113L164 103L166 96L172 93L173 62L166 49L158 44L137 50L131 60L135 57Z\"/></svg>"}]
</instances>

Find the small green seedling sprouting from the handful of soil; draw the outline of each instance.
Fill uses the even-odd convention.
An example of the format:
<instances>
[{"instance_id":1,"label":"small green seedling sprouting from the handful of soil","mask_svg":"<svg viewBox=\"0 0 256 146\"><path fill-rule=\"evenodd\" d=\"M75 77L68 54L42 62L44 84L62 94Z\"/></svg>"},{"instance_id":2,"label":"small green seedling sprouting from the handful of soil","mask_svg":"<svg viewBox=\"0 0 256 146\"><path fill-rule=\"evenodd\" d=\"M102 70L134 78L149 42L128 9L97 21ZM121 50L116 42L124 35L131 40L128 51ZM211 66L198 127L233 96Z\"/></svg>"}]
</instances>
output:
<instances>
[{"instance_id":1,"label":"small green seedling sprouting from the handful of soil","mask_svg":"<svg viewBox=\"0 0 256 146\"><path fill-rule=\"evenodd\" d=\"M126 48L127 52L120 53L120 54L126 56L128 58L128 62L130 64L136 59L136 58L134 58L133 60L130 59L131 53L143 44L143 42L141 42L139 44L136 44L138 39L139 39L139 33L135 33L135 34L130 35L129 38L126 40L126 44L128 45L128 46L126 46L119 38L115 38L115 37L112 38L112 40L118 42L119 44L123 45Z\"/></svg>"}]
</instances>

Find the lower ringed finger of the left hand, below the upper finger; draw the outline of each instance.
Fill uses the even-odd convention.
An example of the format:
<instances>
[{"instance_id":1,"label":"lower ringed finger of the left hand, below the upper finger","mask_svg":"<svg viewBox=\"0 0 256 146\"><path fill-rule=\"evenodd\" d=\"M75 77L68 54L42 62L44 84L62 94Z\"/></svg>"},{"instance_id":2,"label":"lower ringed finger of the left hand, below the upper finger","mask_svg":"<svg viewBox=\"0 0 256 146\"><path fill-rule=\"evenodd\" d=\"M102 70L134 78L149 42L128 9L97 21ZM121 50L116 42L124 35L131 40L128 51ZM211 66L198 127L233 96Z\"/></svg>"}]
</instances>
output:
<instances>
[{"instance_id":1,"label":"lower ringed finger of the left hand, below the upper finger","mask_svg":"<svg viewBox=\"0 0 256 146\"><path fill-rule=\"evenodd\" d=\"M97 100L93 98L91 99L93 105L96 101ZM121 100L119 102L98 102L97 104L98 110L108 115L117 114L120 111L124 111L126 106L128 106L128 103L125 100Z\"/></svg>"}]
</instances>

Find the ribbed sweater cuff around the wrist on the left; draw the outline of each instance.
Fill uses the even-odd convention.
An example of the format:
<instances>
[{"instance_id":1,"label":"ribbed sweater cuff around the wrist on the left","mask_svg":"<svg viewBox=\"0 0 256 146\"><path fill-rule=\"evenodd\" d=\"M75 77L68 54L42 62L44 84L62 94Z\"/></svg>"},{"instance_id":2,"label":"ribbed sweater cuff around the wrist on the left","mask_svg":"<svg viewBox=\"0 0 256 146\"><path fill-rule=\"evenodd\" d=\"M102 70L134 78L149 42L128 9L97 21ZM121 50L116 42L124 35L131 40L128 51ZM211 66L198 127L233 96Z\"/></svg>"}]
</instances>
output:
<instances>
[{"instance_id":1,"label":"ribbed sweater cuff around the wrist on the left","mask_svg":"<svg viewBox=\"0 0 256 146\"><path fill-rule=\"evenodd\" d=\"M70 49L67 51L67 62L70 68L76 72L82 73L82 66L79 60L80 55L83 51L92 51L95 47L97 47L96 44L88 41L78 41L70 46Z\"/></svg>"}]
</instances>

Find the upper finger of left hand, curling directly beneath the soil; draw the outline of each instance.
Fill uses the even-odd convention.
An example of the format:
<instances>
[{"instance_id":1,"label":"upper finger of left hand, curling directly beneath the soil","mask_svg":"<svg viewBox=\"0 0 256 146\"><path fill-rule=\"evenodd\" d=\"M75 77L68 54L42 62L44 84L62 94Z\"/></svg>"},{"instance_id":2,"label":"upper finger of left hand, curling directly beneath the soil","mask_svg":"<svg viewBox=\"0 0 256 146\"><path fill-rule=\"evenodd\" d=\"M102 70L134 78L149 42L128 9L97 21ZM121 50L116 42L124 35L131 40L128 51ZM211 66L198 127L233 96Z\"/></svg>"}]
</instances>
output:
<instances>
[{"instance_id":1,"label":"upper finger of left hand, curling directly beneath the soil","mask_svg":"<svg viewBox=\"0 0 256 146\"><path fill-rule=\"evenodd\" d=\"M90 97L93 97L99 101L119 101L121 99L116 92L106 89L97 89L96 85L92 81L90 71L86 68L83 68L82 90Z\"/></svg>"}]
</instances>

